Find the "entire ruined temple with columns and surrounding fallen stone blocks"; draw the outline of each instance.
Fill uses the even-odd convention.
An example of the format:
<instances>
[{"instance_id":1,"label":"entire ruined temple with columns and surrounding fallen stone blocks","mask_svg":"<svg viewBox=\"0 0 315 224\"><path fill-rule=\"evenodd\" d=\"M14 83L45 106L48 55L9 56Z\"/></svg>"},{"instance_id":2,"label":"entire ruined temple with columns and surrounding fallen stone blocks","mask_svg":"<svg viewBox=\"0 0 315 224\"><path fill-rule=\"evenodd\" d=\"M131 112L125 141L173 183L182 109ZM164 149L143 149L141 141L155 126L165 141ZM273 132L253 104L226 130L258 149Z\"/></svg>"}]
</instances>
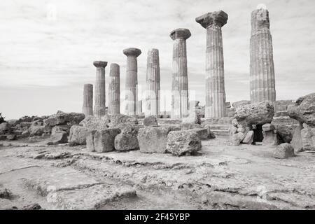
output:
<instances>
[{"instance_id":1,"label":"entire ruined temple with columns and surrounding fallen stone blocks","mask_svg":"<svg viewBox=\"0 0 315 224\"><path fill-rule=\"evenodd\" d=\"M0 139L29 141L45 139L49 144L85 145L87 151L140 150L141 153L195 155L202 140L216 136L240 144L276 147L276 158L288 158L300 151L315 151L315 93L296 102L276 101L272 36L269 13L258 8L251 13L250 101L225 102L222 27L228 14L222 10L197 17L207 30L206 104L189 101L188 54L189 29L174 29L172 111L170 118L160 111L159 50L147 57L146 99L138 99L138 48L127 48L125 101L120 105L120 66L111 64L109 99L106 110L105 69L107 62L95 61L96 78L83 87L83 113L58 111L52 116L29 117L0 124ZM94 98L94 99L93 99ZM94 105L93 105L94 100ZM120 114L120 106L123 113Z\"/></svg>"}]
</instances>

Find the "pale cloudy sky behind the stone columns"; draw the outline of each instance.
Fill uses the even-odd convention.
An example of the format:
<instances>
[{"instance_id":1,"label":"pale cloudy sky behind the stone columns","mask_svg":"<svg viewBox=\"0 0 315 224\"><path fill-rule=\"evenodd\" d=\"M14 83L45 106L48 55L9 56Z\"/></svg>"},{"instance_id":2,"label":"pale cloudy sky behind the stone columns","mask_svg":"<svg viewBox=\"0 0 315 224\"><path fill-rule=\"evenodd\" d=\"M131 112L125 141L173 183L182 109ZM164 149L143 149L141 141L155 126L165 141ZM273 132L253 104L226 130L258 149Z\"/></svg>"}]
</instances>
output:
<instances>
[{"instance_id":1,"label":"pale cloudy sky behind the stone columns","mask_svg":"<svg viewBox=\"0 0 315 224\"><path fill-rule=\"evenodd\" d=\"M1 0L0 112L7 119L57 110L80 112L83 84L94 85L94 60L120 64L120 88L125 90L123 49L129 47L142 51L142 88L146 53L160 50L161 90L170 90L169 33L176 28L188 28L192 34L187 40L189 87L204 105L206 29L195 18L216 10L229 15L222 29L227 101L249 99L250 17L258 3L269 10L276 99L315 92L314 0Z\"/></svg>"}]
</instances>

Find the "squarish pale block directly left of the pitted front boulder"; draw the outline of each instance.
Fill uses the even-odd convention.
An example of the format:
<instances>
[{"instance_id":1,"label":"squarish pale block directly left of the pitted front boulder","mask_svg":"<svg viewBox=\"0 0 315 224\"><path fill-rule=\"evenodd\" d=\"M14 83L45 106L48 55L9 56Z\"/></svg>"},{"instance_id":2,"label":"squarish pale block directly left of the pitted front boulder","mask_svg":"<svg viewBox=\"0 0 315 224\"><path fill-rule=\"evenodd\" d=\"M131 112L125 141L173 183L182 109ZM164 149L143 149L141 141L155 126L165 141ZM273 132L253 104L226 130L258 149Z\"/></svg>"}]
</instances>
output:
<instances>
[{"instance_id":1,"label":"squarish pale block directly left of the pitted front boulder","mask_svg":"<svg viewBox=\"0 0 315 224\"><path fill-rule=\"evenodd\" d=\"M173 130L180 130L180 128L175 125L140 128L137 138L141 153L165 153L167 134Z\"/></svg>"}]
</instances>

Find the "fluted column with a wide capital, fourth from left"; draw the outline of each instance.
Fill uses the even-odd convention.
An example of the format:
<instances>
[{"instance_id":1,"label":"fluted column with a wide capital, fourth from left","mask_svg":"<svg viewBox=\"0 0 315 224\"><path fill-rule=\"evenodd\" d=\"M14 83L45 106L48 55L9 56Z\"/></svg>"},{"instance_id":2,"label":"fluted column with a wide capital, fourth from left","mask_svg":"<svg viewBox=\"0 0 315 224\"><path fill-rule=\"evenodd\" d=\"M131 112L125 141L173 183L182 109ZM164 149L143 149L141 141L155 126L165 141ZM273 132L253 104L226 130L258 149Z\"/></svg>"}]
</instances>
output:
<instances>
[{"instance_id":1,"label":"fluted column with a wide capital, fourth from left","mask_svg":"<svg viewBox=\"0 0 315 224\"><path fill-rule=\"evenodd\" d=\"M138 48L127 48L123 50L127 56L126 67L126 84L125 84L125 114L128 116L137 115L138 102L138 65L137 57L141 55L141 50Z\"/></svg>"}]
</instances>

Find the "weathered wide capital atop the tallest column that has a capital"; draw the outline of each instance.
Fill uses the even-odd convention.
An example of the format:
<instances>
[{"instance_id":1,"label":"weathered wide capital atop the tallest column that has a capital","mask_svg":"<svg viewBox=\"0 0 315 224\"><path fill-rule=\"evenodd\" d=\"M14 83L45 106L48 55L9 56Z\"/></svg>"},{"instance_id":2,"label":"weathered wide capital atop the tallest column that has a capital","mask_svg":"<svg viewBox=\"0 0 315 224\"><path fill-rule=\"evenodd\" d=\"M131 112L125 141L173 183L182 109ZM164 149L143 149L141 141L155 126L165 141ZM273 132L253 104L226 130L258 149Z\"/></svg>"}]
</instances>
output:
<instances>
[{"instance_id":1,"label":"weathered wide capital atop the tallest column that has a capital","mask_svg":"<svg viewBox=\"0 0 315 224\"><path fill-rule=\"evenodd\" d=\"M206 13L196 18L196 22L200 23L202 27L206 28L210 25L218 25L223 27L228 21L228 14L223 12L223 10L216 11L213 13Z\"/></svg>"}]
</instances>

